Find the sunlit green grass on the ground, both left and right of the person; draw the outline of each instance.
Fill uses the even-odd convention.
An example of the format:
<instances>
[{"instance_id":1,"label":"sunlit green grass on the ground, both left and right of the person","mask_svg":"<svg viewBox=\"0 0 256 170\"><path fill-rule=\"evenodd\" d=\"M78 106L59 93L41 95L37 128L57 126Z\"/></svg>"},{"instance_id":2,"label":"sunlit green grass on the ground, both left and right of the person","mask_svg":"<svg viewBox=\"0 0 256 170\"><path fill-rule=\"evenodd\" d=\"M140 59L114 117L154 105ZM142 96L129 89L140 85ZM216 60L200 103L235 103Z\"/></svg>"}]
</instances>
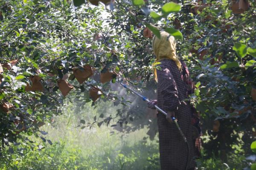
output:
<instances>
[{"instance_id":1,"label":"sunlit green grass on the ground, both left and right of the person","mask_svg":"<svg viewBox=\"0 0 256 170\"><path fill-rule=\"evenodd\" d=\"M101 127L95 124L91 129L77 127L81 125L80 119L93 122L94 116L98 119L99 114L104 113L106 117L116 109L102 106L77 111L73 107L65 108L62 116L54 117L54 123L41 127L48 132L43 136L51 140L52 145L35 136L28 136L35 143L11 144L13 151L6 148L0 157L0 170L159 170L157 136L153 141L143 140L147 136L146 127L131 133L119 133L105 123ZM239 151L237 147L234 150ZM228 155L227 164L217 158L203 157L198 160L198 168L241 170L247 165L245 157L235 153Z\"/></svg>"}]
</instances>

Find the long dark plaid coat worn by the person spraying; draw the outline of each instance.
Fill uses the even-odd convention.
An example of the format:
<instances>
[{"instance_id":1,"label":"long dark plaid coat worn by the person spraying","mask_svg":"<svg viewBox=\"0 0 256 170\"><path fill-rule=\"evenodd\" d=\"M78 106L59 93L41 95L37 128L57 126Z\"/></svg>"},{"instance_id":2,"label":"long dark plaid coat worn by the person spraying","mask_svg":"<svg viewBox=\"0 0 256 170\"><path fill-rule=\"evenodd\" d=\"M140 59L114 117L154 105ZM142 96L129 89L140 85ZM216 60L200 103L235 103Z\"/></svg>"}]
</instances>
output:
<instances>
[{"instance_id":1,"label":"long dark plaid coat worn by the person spraying","mask_svg":"<svg viewBox=\"0 0 256 170\"><path fill-rule=\"evenodd\" d=\"M174 111L178 124L186 136L189 147L189 166L194 168L194 146L192 142L191 106L184 102L187 99L187 87L183 81L182 72L178 70L173 60L160 61L161 70L157 70L157 106L164 111ZM159 130L159 150L161 170L184 170L187 159L187 148L175 124L170 124L166 116L157 114Z\"/></svg>"}]
</instances>

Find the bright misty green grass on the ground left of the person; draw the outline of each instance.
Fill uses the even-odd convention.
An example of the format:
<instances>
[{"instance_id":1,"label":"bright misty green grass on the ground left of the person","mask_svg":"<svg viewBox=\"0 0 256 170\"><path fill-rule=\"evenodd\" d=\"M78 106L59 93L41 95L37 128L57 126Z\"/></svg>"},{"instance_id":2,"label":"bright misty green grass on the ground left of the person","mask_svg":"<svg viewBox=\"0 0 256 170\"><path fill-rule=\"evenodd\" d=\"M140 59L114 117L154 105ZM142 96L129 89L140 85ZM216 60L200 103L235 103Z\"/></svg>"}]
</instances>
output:
<instances>
[{"instance_id":1,"label":"bright misty green grass on the ground left of the person","mask_svg":"<svg viewBox=\"0 0 256 170\"><path fill-rule=\"evenodd\" d=\"M44 127L46 128L46 127ZM3 170L153 170L159 169L158 145L155 142L140 142L143 130L122 136L111 135L107 127L92 130L48 130L47 139L54 142L46 144L41 151L30 144L13 147L15 153L6 151ZM58 132L58 133L53 133ZM60 133L64 136L60 135ZM55 136L58 134L60 136ZM131 142L130 142L131 140ZM57 142L58 141L58 142ZM39 144L39 143L38 143ZM44 143L40 143L44 145ZM37 144L34 144L37 145ZM23 148L23 155L18 154ZM9 160L12 161L9 161ZM3 160L2 160L3 161ZM153 164L152 164L153 163Z\"/></svg>"}]
</instances>

